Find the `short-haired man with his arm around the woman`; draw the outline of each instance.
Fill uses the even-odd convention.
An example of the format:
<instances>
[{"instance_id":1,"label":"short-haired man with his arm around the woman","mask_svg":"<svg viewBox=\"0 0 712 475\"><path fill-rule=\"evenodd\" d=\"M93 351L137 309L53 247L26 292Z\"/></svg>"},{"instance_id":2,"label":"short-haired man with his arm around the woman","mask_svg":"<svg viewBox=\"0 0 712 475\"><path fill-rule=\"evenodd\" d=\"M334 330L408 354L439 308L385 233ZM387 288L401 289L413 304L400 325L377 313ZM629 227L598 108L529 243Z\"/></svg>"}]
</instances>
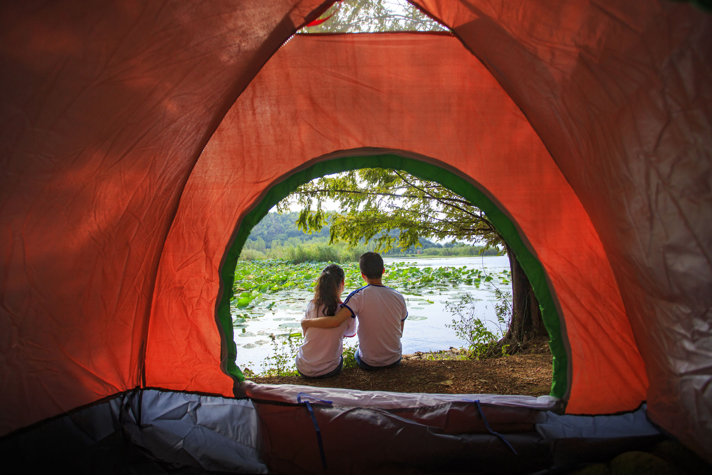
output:
<instances>
[{"instance_id":1,"label":"short-haired man with his arm around the woman","mask_svg":"<svg viewBox=\"0 0 712 475\"><path fill-rule=\"evenodd\" d=\"M400 339L408 310L403 296L383 285L383 259L367 252L359 259L361 277L367 285L350 293L333 317L302 320L303 328L336 328L347 318L358 318L359 347L356 362L363 370L399 365Z\"/></svg>"}]
</instances>

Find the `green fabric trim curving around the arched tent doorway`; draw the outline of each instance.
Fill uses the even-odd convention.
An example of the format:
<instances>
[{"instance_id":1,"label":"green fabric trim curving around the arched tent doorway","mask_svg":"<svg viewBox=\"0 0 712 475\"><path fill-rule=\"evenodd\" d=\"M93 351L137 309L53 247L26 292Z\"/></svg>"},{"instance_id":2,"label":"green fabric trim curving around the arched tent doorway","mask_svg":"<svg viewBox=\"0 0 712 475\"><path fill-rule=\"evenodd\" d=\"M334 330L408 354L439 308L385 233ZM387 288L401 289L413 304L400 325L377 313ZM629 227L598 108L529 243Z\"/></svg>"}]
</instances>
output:
<instances>
[{"instance_id":1,"label":"green fabric trim curving around the arched tent doorway","mask_svg":"<svg viewBox=\"0 0 712 475\"><path fill-rule=\"evenodd\" d=\"M504 214L491 199L477 189L475 185L436 165L400 157L399 155L345 157L319 162L307 169L296 172L283 182L276 184L268 190L261 202L259 202L251 212L246 214L242 220L236 239L228 251L227 259L221 271L221 284L224 287L222 288L222 298L218 306L218 318L222 325L228 347L227 372L229 375L236 377L239 381L245 380L242 371L236 364L237 347L234 341L230 300L233 297L235 267L242 246L244 246L252 228L266 216L272 207L300 185L328 174L360 168L394 168L404 170L420 179L438 182L444 187L448 187L461 197L470 200L476 207L485 212L488 219L514 251L516 259L529 278L535 296L539 300L544 326L549 333L549 348L553 356L553 380L550 394L555 397L563 397L567 390L568 357L562 340L560 318L551 297L541 263L531 254L529 249L527 249L527 246L525 246L520 238L512 221L510 221L506 214Z\"/></svg>"}]
</instances>

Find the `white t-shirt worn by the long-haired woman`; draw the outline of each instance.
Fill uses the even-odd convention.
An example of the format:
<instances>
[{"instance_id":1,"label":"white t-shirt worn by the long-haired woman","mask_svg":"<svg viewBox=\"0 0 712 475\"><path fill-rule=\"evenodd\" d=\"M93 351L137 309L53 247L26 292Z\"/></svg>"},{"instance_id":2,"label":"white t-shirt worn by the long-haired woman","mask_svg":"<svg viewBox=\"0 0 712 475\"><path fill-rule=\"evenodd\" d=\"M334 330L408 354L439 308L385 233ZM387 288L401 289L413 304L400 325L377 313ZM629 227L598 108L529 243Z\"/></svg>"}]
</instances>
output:
<instances>
[{"instance_id":1,"label":"white t-shirt worn by the long-haired woman","mask_svg":"<svg viewBox=\"0 0 712 475\"><path fill-rule=\"evenodd\" d=\"M310 302L304 318L323 317L323 308L315 308L314 303ZM337 328L308 328L304 343L295 357L297 369L305 376L321 376L335 370L341 362L344 337L355 335L355 318L347 318Z\"/></svg>"}]
</instances>

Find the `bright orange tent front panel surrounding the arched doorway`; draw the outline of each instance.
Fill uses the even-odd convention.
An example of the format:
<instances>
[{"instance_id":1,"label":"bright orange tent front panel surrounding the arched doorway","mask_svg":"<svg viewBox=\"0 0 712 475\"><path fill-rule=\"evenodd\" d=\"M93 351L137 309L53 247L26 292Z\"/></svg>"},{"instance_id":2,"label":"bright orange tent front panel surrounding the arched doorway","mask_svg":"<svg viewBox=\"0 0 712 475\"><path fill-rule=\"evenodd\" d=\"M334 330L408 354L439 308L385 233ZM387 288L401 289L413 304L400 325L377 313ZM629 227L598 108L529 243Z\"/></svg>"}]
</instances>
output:
<instances>
[{"instance_id":1,"label":"bright orange tent front panel surrounding the arched doorway","mask_svg":"<svg viewBox=\"0 0 712 475\"><path fill-rule=\"evenodd\" d=\"M453 36L418 33L295 36L236 100L198 160L166 239L148 385L229 390L217 365L214 314L236 225L283 177L359 147L424 155L482 184L522 229L553 283L564 331L575 335L570 407L606 413L640 404L643 362L586 212L486 68Z\"/></svg>"}]
</instances>

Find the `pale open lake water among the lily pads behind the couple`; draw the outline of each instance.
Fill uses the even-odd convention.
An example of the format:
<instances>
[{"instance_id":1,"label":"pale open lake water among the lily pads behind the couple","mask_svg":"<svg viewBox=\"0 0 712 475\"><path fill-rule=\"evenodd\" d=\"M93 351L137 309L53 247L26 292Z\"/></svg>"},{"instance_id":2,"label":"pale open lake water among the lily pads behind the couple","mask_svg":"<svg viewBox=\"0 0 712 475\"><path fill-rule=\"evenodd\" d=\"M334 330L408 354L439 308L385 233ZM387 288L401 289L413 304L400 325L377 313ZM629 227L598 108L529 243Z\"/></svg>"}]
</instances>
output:
<instances>
[{"instance_id":1,"label":"pale open lake water among the lily pads behind the couple","mask_svg":"<svg viewBox=\"0 0 712 475\"><path fill-rule=\"evenodd\" d=\"M405 322L402 337L404 354L416 351L446 350L451 346L456 348L466 346L466 342L457 338L452 328L445 326L451 323L454 318L446 310L445 303L459 301L467 293L479 299L476 303L476 315L483 321L491 320L488 327L493 331L496 330L493 291L495 288L509 292L512 290L508 278L502 277L503 271L509 270L507 256L384 259L387 268L393 263L402 263L403 261L408 266L419 268L478 268L482 271L483 276L494 277L489 282L485 282L483 279L479 283L479 287L466 283L443 284L435 282L432 286L425 286L415 292L402 288L402 286L394 286L404 294L408 306L409 318ZM387 278L384 279L384 285L390 286ZM356 288L347 288L342 298L346 298L348 293ZM414 293L421 295L414 295ZM313 291L304 288L272 293L268 298L269 302L265 301L262 304L263 316L251 318L244 325L234 328L237 365L249 367L254 372L266 370L267 368L263 367L264 359L273 352L272 340L269 335L283 335L300 331L299 320L303 318L306 306L313 296ZM268 303L271 308L268 308ZM344 343L356 344L357 338L344 338Z\"/></svg>"}]
</instances>

